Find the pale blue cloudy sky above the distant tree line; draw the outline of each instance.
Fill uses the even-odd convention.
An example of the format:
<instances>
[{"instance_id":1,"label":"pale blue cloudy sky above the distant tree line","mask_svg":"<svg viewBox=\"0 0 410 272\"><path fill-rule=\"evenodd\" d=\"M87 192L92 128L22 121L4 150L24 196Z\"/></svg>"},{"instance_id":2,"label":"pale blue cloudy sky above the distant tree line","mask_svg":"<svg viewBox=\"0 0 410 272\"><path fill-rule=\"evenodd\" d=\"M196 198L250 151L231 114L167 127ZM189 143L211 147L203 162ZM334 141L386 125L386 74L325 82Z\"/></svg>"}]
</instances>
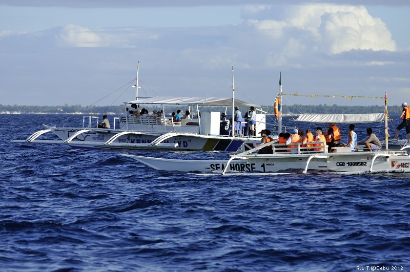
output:
<instances>
[{"instance_id":1,"label":"pale blue cloudy sky above the distant tree line","mask_svg":"<svg viewBox=\"0 0 410 272\"><path fill-rule=\"evenodd\" d=\"M270 106L281 75L289 105L410 103L408 14L407 0L0 0L0 104L119 105L138 61L139 96L232 97L234 76L235 98Z\"/></svg>"}]
</instances>

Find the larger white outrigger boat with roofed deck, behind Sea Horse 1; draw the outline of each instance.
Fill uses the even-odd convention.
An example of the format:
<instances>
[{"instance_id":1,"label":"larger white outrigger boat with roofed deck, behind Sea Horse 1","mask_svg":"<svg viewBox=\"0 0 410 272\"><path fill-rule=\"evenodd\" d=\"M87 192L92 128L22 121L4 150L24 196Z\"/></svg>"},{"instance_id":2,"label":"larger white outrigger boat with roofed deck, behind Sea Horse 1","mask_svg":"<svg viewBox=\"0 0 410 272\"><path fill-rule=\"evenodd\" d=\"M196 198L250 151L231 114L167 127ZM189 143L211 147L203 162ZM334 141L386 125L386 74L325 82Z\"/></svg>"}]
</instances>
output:
<instances>
[{"instance_id":1,"label":"larger white outrigger boat with roofed deck, behind Sea Horse 1","mask_svg":"<svg viewBox=\"0 0 410 272\"><path fill-rule=\"evenodd\" d=\"M211 109L225 107L225 112L232 107L232 116L235 106L256 111L257 128L253 135L265 129L266 112L253 103L235 99L235 81L233 81L232 98L218 97L138 97L138 69L136 78L136 99L125 102L124 114L115 117L112 129L98 128L97 116L83 117L82 127L51 127L44 125L45 130L32 134L26 140L14 140L24 143L64 143L72 148L87 149L173 149L189 151L228 151L236 152L238 148L251 149L260 141L256 136L247 136L246 133L235 128L241 124L229 125L229 121L220 121L221 112ZM166 112L166 106L187 107L190 112L196 112L197 117L174 121L172 117L131 118L126 108L132 104L160 107ZM160 110L158 110L160 111ZM200 114L198 114L200 113ZM225 130L225 127L231 128ZM232 129L234 128L234 129ZM42 140L40 136L54 133L61 140ZM239 132L239 133L238 133Z\"/></svg>"}]
</instances>

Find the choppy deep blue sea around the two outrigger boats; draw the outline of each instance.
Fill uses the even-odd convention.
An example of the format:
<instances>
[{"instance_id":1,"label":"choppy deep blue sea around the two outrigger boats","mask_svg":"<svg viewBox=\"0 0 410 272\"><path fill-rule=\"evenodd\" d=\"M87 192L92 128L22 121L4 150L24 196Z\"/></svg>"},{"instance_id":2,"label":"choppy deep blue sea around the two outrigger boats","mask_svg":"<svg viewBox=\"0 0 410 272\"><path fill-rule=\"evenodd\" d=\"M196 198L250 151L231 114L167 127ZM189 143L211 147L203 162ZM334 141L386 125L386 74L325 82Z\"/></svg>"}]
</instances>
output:
<instances>
[{"instance_id":1,"label":"choppy deep blue sea around the two outrigger boats","mask_svg":"<svg viewBox=\"0 0 410 272\"><path fill-rule=\"evenodd\" d=\"M0 271L410 271L410 174L167 173L119 153L228 155L15 143L82 116L1 116Z\"/></svg>"}]
</instances>

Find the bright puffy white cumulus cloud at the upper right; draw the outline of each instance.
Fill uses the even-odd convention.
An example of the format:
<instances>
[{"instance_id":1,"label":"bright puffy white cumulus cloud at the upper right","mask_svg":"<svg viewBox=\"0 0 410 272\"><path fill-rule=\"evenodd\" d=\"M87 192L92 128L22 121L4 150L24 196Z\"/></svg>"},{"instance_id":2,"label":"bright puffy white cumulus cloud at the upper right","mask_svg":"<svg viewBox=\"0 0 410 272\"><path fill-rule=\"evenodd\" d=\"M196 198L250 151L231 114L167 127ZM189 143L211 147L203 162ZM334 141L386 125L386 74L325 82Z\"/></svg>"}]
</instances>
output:
<instances>
[{"instance_id":1,"label":"bright puffy white cumulus cloud at the upper right","mask_svg":"<svg viewBox=\"0 0 410 272\"><path fill-rule=\"evenodd\" d=\"M256 10L253 11L257 17ZM387 26L380 18L371 16L363 6L303 5L292 6L284 13L283 20L253 18L247 23L271 36L272 43L277 44L274 39L278 38L287 40L288 44L289 40L296 39L310 50L327 54L354 49L397 50ZM303 47L294 47L294 52L284 49L289 56L299 56Z\"/></svg>"}]
</instances>

